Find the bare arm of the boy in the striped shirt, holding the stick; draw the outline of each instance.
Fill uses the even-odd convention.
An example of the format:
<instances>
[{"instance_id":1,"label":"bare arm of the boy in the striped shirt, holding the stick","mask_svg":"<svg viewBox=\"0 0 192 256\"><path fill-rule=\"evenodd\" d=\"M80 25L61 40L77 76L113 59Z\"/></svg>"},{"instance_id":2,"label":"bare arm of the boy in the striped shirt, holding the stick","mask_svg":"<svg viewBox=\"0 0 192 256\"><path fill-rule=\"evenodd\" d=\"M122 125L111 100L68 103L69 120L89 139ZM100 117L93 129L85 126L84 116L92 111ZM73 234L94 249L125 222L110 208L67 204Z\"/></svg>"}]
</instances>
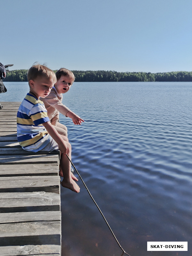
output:
<instances>
[{"instance_id":1,"label":"bare arm of the boy in the striped shirt, holding the stick","mask_svg":"<svg viewBox=\"0 0 192 256\"><path fill-rule=\"evenodd\" d=\"M67 153L67 144L65 143L65 141L62 139L62 137L60 136L60 134L57 132L57 130L55 129L55 127L49 122L43 123L43 126L45 127L45 129L47 130L47 132L51 135L51 137L53 138L53 140L55 140L59 146L59 150L63 153L66 154Z\"/></svg>"}]
</instances>

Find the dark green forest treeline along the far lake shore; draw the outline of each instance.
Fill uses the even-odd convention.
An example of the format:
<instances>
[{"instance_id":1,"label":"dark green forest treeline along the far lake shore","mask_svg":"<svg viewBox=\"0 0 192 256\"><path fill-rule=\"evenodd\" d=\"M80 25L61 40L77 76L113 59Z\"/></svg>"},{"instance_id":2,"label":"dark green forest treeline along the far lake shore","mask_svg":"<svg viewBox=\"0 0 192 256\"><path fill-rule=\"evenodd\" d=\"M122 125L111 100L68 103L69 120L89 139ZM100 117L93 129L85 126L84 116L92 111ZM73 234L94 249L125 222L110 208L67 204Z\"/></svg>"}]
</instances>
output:
<instances>
[{"instance_id":1,"label":"dark green forest treeline along the far lake shore","mask_svg":"<svg viewBox=\"0 0 192 256\"><path fill-rule=\"evenodd\" d=\"M56 72L56 70L54 70ZM27 82L27 69L11 70L5 82ZM116 71L78 71L73 70L76 82L192 82L192 71L164 73L116 72Z\"/></svg>"}]
</instances>

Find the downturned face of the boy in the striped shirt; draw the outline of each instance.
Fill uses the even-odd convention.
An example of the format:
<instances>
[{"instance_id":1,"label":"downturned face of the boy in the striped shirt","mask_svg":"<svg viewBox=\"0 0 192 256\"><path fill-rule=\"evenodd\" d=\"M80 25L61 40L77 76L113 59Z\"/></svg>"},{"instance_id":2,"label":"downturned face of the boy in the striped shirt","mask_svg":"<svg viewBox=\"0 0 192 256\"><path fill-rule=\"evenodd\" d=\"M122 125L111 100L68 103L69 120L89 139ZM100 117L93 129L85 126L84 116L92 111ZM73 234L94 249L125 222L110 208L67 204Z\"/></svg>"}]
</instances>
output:
<instances>
[{"instance_id":1,"label":"downturned face of the boy in the striped shirt","mask_svg":"<svg viewBox=\"0 0 192 256\"><path fill-rule=\"evenodd\" d=\"M39 97L45 98L51 92L51 88L54 86L52 79L47 79L45 77L37 77L35 80L30 80L30 92L36 95L37 99Z\"/></svg>"}]
</instances>

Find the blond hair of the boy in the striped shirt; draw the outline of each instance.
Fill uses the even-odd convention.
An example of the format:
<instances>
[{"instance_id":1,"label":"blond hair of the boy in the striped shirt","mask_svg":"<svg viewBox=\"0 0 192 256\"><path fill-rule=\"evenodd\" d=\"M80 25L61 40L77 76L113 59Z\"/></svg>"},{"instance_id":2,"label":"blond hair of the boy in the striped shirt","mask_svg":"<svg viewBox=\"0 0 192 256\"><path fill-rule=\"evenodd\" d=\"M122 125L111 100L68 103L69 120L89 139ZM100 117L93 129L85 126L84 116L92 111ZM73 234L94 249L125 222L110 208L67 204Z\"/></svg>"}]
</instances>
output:
<instances>
[{"instance_id":1,"label":"blond hair of the boy in the striped shirt","mask_svg":"<svg viewBox=\"0 0 192 256\"><path fill-rule=\"evenodd\" d=\"M27 73L28 83L30 80L35 80L37 77L44 77L49 80L53 80L55 83L57 81L55 73L50 68L47 68L45 65L41 64L34 64L31 68L29 68Z\"/></svg>"}]
</instances>

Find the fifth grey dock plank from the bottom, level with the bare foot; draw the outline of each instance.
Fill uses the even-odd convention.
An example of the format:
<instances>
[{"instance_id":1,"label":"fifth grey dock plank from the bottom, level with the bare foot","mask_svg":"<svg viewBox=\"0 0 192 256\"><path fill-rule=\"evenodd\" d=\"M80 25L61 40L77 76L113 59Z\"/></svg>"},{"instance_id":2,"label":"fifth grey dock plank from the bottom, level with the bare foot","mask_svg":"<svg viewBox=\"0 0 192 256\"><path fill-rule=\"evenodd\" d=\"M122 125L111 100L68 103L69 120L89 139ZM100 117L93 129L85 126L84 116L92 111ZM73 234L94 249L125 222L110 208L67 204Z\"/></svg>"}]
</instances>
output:
<instances>
[{"instance_id":1,"label":"fifth grey dock plank from the bottom, level with the bare foot","mask_svg":"<svg viewBox=\"0 0 192 256\"><path fill-rule=\"evenodd\" d=\"M1 188L34 188L59 186L59 176L15 176L0 177Z\"/></svg>"}]
</instances>

